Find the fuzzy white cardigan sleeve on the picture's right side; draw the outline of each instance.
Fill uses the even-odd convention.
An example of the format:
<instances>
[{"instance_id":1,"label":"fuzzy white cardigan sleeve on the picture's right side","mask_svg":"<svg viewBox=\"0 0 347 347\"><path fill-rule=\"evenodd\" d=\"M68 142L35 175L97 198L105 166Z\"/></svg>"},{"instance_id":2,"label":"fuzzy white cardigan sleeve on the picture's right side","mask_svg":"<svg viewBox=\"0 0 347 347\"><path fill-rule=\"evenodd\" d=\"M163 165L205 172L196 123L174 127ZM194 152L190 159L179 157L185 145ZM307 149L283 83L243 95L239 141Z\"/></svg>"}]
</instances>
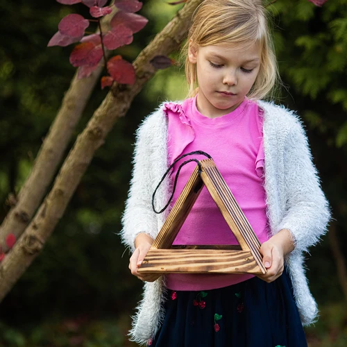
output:
<instances>
[{"instance_id":1,"label":"fuzzy white cardigan sleeve on the picture's right side","mask_svg":"<svg viewBox=\"0 0 347 347\"><path fill-rule=\"evenodd\" d=\"M284 149L287 202L277 231L290 230L296 251L307 251L325 233L330 208L312 162L305 130L298 119L287 133Z\"/></svg>"}]
</instances>

